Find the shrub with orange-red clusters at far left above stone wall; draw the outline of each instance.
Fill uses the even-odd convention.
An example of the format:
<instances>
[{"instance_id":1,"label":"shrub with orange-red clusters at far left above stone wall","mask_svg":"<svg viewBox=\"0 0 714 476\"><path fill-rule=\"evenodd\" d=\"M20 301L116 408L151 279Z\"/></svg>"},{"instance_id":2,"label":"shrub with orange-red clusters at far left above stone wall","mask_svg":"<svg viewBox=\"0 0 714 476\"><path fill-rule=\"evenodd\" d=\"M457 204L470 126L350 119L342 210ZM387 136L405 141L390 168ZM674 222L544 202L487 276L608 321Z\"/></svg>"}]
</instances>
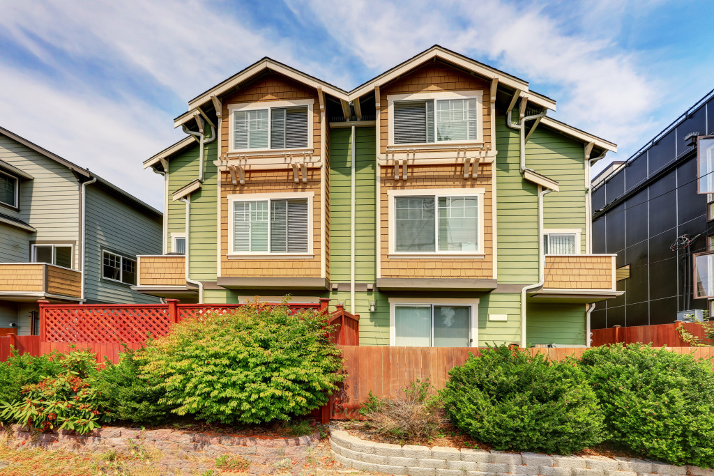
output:
<instances>
[{"instance_id":1,"label":"shrub with orange-red clusters at far left above stone wall","mask_svg":"<svg viewBox=\"0 0 714 476\"><path fill-rule=\"evenodd\" d=\"M88 382L96 375L95 359L89 350L60 355L62 372L25 385L21 399L2 402L0 417L41 431L58 428L85 435L98 428L106 416L99 392Z\"/></svg>"}]
</instances>

